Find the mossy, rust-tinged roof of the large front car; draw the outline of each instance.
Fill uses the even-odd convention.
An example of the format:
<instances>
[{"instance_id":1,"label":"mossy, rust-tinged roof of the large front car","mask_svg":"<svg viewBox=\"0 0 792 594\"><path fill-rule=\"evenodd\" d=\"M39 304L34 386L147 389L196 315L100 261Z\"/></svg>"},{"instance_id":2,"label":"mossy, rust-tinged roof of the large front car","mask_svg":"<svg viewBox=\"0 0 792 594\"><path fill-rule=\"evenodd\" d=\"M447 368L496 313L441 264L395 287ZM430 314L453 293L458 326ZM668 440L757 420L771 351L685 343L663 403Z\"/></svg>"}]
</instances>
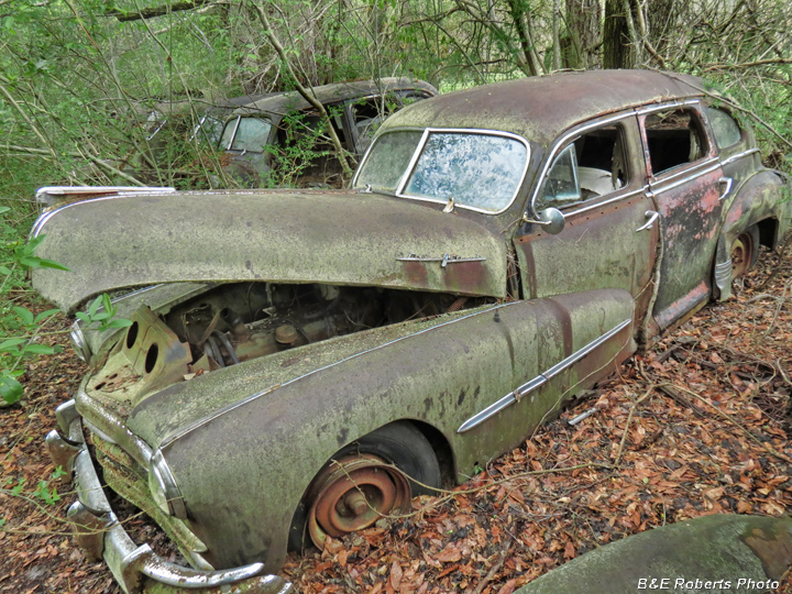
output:
<instances>
[{"instance_id":1,"label":"mossy, rust-tinged roof of the large front car","mask_svg":"<svg viewBox=\"0 0 792 594\"><path fill-rule=\"evenodd\" d=\"M547 146L578 122L625 108L704 95L693 76L654 70L585 70L484 85L419 101L392 116L400 127L473 128Z\"/></svg>"}]
</instances>

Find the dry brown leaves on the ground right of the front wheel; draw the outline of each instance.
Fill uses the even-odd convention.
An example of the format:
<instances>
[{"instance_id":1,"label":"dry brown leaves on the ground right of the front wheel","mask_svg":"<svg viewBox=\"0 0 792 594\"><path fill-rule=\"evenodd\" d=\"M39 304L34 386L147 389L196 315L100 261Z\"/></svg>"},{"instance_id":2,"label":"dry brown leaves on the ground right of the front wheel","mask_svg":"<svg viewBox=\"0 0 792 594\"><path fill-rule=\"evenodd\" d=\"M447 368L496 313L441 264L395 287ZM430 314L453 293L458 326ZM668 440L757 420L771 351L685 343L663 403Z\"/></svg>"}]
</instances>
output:
<instances>
[{"instance_id":1,"label":"dry brown leaves on the ground right of the front wheel","mask_svg":"<svg viewBox=\"0 0 792 594\"><path fill-rule=\"evenodd\" d=\"M792 263L760 294L774 255L762 264L735 299L707 307L458 490L475 492L422 498L410 518L292 557L282 574L304 594L510 594L653 527L781 515L792 505ZM595 415L566 422L592 405Z\"/></svg>"}]
</instances>

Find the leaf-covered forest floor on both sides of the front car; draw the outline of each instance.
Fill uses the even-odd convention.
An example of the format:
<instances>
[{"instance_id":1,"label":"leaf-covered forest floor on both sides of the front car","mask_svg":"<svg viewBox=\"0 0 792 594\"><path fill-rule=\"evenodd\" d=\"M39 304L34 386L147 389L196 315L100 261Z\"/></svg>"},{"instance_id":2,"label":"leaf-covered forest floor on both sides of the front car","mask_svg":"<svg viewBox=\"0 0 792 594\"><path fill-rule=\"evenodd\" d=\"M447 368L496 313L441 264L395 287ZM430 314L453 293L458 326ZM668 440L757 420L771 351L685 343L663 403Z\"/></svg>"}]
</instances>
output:
<instances>
[{"instance_id":1,"label":"leaf-covered forest floor on both sides of the front car","mask_svg":"<svg viewBox=\"0 0 792 594\"><path fill-rule=\"evenodd\" d=\"M62 519L74 496L53 480L43 438L84 367L65 334L51 340L64 353L30 367L22 406L0 409L0 594L119 594ZM289 557L282 575L300 594L510 594L653 527L780 516L792 507L791 375L792 254L766 252L733 299L707 306L520 448L455 491L416 499L407 517ZM143 518L128 521L162 541Z\"/></svg>"}]
</instances>

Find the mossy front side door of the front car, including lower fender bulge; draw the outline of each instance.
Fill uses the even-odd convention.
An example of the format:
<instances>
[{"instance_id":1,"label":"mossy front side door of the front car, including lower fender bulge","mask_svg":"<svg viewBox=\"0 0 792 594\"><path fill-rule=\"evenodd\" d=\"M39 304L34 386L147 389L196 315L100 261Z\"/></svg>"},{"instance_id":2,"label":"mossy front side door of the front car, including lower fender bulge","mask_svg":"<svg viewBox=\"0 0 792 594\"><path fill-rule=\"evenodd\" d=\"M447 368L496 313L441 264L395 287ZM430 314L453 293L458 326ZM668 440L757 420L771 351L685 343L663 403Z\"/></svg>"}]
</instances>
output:
<instances>
[{"instance_id":1,"label":"mossy front side door of the front car, including lower fender bulge","mask_svg":"<svg viewBox=\"0 0 792 594\"><path fill-rule=\"evenodd\" d=\"M515 394L553 409L613 372L635 351L651 301L658 218L644 185L632 112L578 127L550 150L531 194L530 217L563 213L557 234L529 218L513 239L527 304L554 304L562 349L540 349L539 374ZM552 339L552 324L540 331Z\"/></svg>"}]
</instances>

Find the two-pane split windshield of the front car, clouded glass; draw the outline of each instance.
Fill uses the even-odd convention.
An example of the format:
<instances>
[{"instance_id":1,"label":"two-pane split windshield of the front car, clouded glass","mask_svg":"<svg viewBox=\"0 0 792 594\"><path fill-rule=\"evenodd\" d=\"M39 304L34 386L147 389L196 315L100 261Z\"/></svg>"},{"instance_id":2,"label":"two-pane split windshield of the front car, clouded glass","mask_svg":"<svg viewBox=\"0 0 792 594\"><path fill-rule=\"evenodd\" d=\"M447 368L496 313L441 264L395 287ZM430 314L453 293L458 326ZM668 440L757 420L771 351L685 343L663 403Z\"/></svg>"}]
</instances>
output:
<instances>
[{"instance_id":1,"label":"two-pane split windshield of the front car, clouded glass","mask_svg":"<svg viewBox=\"0 0 792 594\"><path fill-rule=\"evenodd\" d=\"M409 170L416 151L420 151ZM528 163L521 139L497 132L397 130L380 136L355 187L405 198L501 212L519 188Z\"/></svg>"}]
</instances>

